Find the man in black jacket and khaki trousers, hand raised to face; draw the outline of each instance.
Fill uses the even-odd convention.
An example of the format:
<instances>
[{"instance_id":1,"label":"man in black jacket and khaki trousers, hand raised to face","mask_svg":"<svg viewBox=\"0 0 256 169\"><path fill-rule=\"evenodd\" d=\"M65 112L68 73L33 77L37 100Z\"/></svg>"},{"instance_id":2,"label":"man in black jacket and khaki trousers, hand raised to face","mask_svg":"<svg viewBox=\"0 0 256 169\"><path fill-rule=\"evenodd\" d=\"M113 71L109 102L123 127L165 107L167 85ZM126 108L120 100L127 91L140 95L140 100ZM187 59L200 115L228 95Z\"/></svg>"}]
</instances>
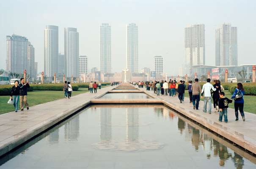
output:
<instances>
[{"instance_id":1,"label":"man in black jacket and khaki trousers, hand raised to face","mask_svg":"<svg viewBox=\"0 0 256 169\"><path fill-rule=\"evenodd\" d=\"M24 78L20 79L20 84L19 84L19 101L20 101L20 109L23 111L24 109L24 104L27 107L27 110L29 109L28 107L28 101L27 101L27 95L28 95L28 88L30 87L28 82L25 82Z\"/></svg>"}]
</instances>

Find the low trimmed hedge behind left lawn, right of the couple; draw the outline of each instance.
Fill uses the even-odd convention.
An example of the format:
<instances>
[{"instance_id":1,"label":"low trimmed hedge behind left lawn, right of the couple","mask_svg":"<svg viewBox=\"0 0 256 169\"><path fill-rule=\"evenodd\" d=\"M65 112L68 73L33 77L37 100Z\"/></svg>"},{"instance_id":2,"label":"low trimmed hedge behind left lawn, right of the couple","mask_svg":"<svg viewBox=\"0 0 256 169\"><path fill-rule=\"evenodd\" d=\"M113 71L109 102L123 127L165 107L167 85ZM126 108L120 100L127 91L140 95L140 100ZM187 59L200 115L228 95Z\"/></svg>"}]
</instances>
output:
<instances>
[{"instance_id":1,"label":"low trimmed hedge behind left lawn, right of the couple","mask_svg":"<svg viewBox=\"0 0 256 169\"><path fill-rule=\"evenodd\" d=\"M33 87L34 90L57 90L57 91L62 91L63 90L63 84L33 84L30 85ZM72 84L72 90L77 91L78 90L78 85Z\"/></svg>"}]
</instances>

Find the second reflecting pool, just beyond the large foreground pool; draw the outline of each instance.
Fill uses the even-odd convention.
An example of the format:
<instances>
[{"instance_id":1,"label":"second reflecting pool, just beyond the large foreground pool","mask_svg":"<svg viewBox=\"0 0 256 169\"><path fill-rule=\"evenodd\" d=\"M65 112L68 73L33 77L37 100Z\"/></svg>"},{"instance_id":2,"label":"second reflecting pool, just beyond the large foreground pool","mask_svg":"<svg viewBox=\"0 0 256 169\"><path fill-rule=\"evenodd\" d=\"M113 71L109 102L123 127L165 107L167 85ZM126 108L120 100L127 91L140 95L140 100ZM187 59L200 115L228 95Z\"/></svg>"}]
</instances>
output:
<instances>
[{"instance_id":1,"label":"second reflecting pool, just beyond the large foreground pool","mask_svg":"<svg viewBox=\"0 0 256 169\"><path fill-rule=\"evenodd\" d=\"M132 98L151 98L149 95L145 93L107 93L103 95L101 98L107 99L132 99Z\"/></svg>"}]
</instances>

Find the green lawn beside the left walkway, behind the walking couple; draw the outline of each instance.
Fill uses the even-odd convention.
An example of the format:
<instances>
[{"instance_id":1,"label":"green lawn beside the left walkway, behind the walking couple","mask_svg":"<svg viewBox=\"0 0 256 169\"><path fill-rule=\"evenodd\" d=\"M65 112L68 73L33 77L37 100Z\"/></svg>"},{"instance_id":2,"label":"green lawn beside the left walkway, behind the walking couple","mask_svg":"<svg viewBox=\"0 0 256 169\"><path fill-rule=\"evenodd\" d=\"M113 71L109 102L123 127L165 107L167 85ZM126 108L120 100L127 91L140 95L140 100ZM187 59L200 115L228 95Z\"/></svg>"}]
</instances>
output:
<instances>
[{"instance_id":1,"label":"green lawn beside the left walkway, behind the walking couple","mask_svg":"<svg viewBox=\"0 0 256 169\"><path fill-rule=\"evenodd\" d=\"M78 91L73 91L72 95L77 95L85 92L88 92L88 88L79 88ZM9 98L10 96L6 95L0 96L0 114L14 111L14 106L12 104L7 104ZM35 90L33 92L28 92L29 106L35 106L37 104L55 101L60 98L64 98L63 91Z\"/></svg>"}]
</instances>

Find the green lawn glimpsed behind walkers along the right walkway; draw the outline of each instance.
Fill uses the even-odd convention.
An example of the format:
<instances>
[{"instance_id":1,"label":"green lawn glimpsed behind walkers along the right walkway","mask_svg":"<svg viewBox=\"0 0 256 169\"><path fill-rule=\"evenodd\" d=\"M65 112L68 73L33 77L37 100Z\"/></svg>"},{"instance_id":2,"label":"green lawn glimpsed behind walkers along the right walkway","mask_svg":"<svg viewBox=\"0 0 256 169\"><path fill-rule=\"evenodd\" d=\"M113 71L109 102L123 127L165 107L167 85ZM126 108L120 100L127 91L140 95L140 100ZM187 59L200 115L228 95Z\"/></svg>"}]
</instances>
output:
<instances>
[{"instance_id":1,"label":"green lawn glimpsed behind walkers along the right walkway","mask_svg":"<svg viewBox=\"0 0 256 169\"><path fill-rule=\"evenodd\" d=\"M224 92L225 92L225 95L227 98L231 98L231 93L228 90L224 90ZM185 97L189 97L188 90L185 91ZM201 98L201 100L203 101L204 99ZM256 114L256 106L255 106L256 96L255 95L245 95L244 100L245 100L244 111ZM213 103L213 101L212 101L212 103ZM234 109L234 100L233 100L233 103L228 105L228 107Z\"/></svg>"}]
</instances>

